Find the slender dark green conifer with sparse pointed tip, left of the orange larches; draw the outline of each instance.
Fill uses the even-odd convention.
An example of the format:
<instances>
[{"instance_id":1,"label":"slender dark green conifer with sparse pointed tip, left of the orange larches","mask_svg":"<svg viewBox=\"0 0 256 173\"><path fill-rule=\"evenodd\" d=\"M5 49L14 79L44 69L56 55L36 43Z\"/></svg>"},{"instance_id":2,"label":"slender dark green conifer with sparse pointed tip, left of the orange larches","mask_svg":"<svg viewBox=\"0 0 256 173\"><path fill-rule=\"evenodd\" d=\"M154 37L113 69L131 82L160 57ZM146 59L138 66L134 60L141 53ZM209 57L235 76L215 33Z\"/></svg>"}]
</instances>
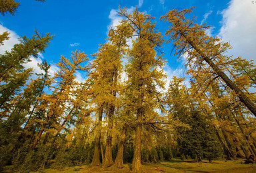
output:
<instances>
[{"instance_id":1,"label":"slender dark green conifer with sparse pointed tip, left of the orange larches","mask_svg":"<svg viewBox=\"0 0 256 173\"><path fill-rule=\"evenodd\" d=\"M41 100L41 96L53 82L49 75L51 65L43 61L41 64L38 64L38 66L43 73L36 74L37 79L32 79L27 88L24 88L24 92L17 96L17 105L15 105L13 112L19 114L20 118L22 118L21 115L24 114L24 120L22 122L22 131L19 137L16 138L17 141L14 142L15 146L12 150L18 149L25 140L31 140L31 136L33 136L36 130L35 122L41 118L38 116L37 112L43 101ZM21 114L21 112L23 113Z\"/></svg>"}]
</instances>

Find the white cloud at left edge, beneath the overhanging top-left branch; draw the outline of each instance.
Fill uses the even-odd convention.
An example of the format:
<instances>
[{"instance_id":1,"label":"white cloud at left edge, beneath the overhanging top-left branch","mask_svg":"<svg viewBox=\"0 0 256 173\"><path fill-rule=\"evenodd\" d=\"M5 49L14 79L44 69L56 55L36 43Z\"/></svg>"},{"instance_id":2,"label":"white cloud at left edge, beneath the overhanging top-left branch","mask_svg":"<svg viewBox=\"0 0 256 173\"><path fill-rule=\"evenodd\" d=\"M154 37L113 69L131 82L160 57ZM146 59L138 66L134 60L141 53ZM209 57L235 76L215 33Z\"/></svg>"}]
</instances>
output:
<instances>
[{"instance_id":1,"label":"white cloud at left edge, beneath the overhanging top-left branch","mask_svg":"<svg viewBox=\"0 0 256 173\"><path fill-rule=\"evenodd\" d=\"M4 45L0 46L0 54L4 54L5 51L11 51L11 48L13 48L13 45L19 43L19 35L17 35L14 31L11 31L10 29L7 29L6 27L3 27L3 25L0 25L0 34L3 32L8 31L9 34L9 40L4 41Z\"/></svg>"}]
</instances>

